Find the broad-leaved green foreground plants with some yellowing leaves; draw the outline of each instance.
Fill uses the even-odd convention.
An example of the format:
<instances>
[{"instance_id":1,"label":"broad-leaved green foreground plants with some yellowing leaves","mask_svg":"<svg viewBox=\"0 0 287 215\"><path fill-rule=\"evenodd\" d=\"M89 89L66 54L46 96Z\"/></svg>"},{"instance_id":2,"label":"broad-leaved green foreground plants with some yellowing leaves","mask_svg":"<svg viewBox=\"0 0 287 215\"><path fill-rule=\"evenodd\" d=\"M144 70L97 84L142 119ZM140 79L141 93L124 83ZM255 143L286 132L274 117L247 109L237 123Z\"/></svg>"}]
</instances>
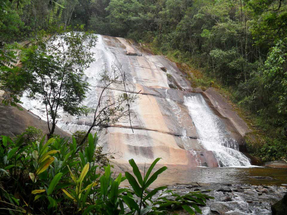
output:
<instances>
[{"instance_id":1,"label":"broad-leaved green foreground plants with some yellowing leaves","mask_svg":"<svg viewBox=\"0 0 287 215\"><path fill-rule=\"evenodd\" d=\"M160 158L144 176L134 160L129 160L138 182L129 172L125 177L121 173L115 177L110 165L101 174L95 165L96 135L88 135L88 144L79 153L74 137L71 141L50 138L45 142L44 136L39 142L23 145L22 136L0 139L1 210L10 214L140 215L170 214L179 209L194 214L201 213L199 206L213 198L200 192L179 196L165 190L166 186L147 189L167 169L162 167L152 174ZM125 179L133 189L120 187Z\"/></svg>"}]
</instances>

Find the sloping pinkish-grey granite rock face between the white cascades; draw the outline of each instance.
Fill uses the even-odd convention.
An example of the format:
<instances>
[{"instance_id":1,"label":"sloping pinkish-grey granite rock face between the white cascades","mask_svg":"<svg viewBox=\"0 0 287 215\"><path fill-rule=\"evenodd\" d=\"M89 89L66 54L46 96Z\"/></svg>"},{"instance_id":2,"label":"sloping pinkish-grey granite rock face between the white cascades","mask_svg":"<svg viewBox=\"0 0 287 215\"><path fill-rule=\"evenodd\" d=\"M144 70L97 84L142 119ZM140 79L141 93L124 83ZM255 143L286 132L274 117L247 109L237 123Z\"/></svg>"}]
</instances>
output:
<instances>
[{"instance_id":1,"label":"sloping pinkish-grey granite rock face between the white cascades","mask_svg":"<svg viewBox=\"0 0 287 215\"><path fill-rule=\"evenodd\" d=\"M135 113L132 115L134 133L128 123L116 123L103 128L99 134L100 144L106 151L122 153L116 162L128 163L130 158L134 158L137 163L151 163L161 157L162 164L218 167L221 162L218 156L222 155L202 144L190 107L186 105L186 98L196 94L203 96L212 115L222 122L221 129L226 132L221 135L225 142L234 139L236 146L233 148L244 149L240 147L244 145L242 136L248 132L244 121L213 89L205 92L193 89L186 74L175 63L164 56L153 55L132 40L111 36L98 35L98 42L92 51L96 60L85 71L91 90L84 105L94 107L97 104L103 87L99 74L115 64L125 72L133 88L129 93L139 93L139 98L131 107ZM123 93L123 87L112 85L110 92L113 95ZM31 109L30 102L25 99L23 102L24 108ZM69 133L87 130L92 119L92 114L79 119L63 115L58 126ZM236 154L234 151L230 153L232 156Z\"/></svg>"}]
</instances>

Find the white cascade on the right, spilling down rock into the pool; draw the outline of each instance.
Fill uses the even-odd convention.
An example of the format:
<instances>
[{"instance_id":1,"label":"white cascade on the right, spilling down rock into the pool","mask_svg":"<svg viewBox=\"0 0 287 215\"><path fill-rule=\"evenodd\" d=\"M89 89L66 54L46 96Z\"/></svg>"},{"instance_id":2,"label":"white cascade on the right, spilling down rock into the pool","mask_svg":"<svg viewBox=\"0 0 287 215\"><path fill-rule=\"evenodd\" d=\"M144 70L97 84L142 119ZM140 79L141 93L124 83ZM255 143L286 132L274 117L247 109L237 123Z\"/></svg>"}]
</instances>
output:
<instances>
[{"instance_id":1,"label":"white cascade on the right, spilling down rock into the pool","mask_svg":"<svg viewBox=\"0 0 287 215\"><path fill-rule=\"evenodd\" d=\"M250 166L249 159L238 151L238 144L230 137L225 124L216 116L200 93L184 97L199 143L212 151L220 166Z\"/></svg>"}]
</instances>

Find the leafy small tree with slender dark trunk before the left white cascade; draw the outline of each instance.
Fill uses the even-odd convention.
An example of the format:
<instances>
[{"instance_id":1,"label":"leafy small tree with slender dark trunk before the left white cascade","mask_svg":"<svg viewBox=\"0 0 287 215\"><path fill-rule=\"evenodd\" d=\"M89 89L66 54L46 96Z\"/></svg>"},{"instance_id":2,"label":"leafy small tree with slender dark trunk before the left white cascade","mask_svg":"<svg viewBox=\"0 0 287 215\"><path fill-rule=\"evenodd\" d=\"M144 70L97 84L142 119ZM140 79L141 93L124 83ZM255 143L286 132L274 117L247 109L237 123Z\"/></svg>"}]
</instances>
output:
<instances>
[{"instance_id":1,"label":"leafy small tree with slender dark trunk before the left white cascade","mask_svg":"<svg viewBox=\"0 0 287 215\"><path fill-rule=\"evenodd\" d=\"M48 137L54 134L57 119L61 113L71 116L86 115L89 109L80 105L86 98L88 83L84 81L84 71L94 61L94 47L97 36L92 33L77 31L60 31L50 38L42 37L36 44L22 50L21 73L7 74L7 76L21 75L25 81L17 83L24 85L28 99L39 103L37 108L48 123ZM15 83L3 83L8 90L13 89Z\"/></svg>"}]
</instances>

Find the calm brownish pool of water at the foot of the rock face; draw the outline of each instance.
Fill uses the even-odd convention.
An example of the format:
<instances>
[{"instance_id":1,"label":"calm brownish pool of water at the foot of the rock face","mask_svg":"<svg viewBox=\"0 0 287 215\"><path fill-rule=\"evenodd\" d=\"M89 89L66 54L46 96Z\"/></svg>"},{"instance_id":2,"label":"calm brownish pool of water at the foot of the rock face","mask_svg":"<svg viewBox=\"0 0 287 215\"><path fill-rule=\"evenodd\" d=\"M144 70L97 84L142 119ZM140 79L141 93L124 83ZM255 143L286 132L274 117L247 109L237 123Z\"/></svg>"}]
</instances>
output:
<instances>
[{"instance_id":1,"label":"calm brownish pool of water at the foot of the rock face","mask_svg":"<svg viewBox=\"0 0 287 215\"><path fill-rule=\"evenodd\" d=\"M155 172L164 165L157 164ZM281 185L287 184L287 168L269 168L269 167L222 167L222 168L204 168L188 167L185 165L166 165L167 170L161 173L151 187L162 185L188 184L191 182L207 184L251 184L251 185ZM141 173L144 173L144 164L138 165ZM146 171L149 165L146 164ZM132 168L129 164L115 164L117 173L129 171ZM114 170L114 171L115 171ZM117 174L116 173L116 174ZM258 178L260 177L260 178ZM123 182L121 185L128 185Z\"/></svg>"}]
</instances>

